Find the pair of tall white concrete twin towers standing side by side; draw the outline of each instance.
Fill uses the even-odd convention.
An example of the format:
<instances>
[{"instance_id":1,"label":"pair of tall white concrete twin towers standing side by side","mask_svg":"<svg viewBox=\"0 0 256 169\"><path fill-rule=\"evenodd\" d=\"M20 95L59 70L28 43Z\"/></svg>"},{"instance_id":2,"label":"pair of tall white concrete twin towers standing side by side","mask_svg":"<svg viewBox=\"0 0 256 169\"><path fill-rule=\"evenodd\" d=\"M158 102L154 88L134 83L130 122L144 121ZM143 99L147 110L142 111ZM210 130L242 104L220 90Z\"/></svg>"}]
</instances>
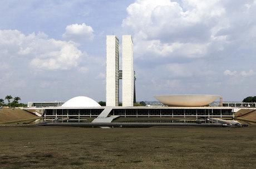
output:
<instances>
[{"instance_id":1,"label":"pair of tall white concrete twin towers standing side by side","mask_svg":"<svg viewBox=\"0 0 256 169\"><path fill-rule=\"evenodd\" d=\"M119 79L122 79L122 106L133 106L134 63L131 35L122 35L122 70L119 70L119 39L106 38L106 106L119 106Z\"/></svg>"}]
</instances>

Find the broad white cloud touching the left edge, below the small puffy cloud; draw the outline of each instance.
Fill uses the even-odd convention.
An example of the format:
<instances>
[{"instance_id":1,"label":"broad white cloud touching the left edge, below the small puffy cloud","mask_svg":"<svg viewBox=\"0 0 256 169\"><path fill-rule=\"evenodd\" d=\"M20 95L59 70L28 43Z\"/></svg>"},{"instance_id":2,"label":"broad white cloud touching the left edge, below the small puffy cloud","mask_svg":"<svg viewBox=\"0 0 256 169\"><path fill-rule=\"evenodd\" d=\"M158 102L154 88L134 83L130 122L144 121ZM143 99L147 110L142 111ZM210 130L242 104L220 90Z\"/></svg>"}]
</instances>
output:
<instances>
[{"instance_id":1,"label":"broad white cloud touching the left edge, below the small puffy cloud","mask_svg":"<svg viewBox=\"0 0 256 169\"><path fill-rule=\"evenodd\" d=\"M25 35L18 30L0 30L0 38L0 58L28 60L34 70L75 68L82 55L75 43L48 39L42 32Z\"/></svg>"}]
</instances>

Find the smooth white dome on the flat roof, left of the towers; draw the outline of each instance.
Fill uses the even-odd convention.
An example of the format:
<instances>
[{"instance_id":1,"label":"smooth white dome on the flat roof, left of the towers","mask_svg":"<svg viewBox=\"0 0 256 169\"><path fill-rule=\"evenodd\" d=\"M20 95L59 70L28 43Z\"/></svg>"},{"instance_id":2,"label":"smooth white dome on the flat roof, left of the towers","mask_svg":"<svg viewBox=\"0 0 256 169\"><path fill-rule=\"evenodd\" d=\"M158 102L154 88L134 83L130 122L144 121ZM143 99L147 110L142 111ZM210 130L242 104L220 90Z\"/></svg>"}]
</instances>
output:
<instances>
[{"instance_id":1,"label":"smooth white dome on the flat roof, left of the towers","mask_svg":"<svg viewBox=\"0 0 256 169\"><path fill-rule=\"evenodd\" d=\"M86 96L77 96L66 101L61 107L100 107L101 105Z\"/></svg>"}]
</instances>

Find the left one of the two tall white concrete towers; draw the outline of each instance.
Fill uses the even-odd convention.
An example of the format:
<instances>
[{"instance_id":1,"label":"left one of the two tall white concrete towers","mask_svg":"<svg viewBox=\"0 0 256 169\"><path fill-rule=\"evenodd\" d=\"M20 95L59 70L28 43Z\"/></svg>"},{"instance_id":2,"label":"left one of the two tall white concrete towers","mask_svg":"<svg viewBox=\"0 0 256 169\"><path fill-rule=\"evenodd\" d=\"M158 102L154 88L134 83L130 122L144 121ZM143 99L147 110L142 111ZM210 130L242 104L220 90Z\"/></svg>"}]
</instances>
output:
<instances>
[{"instance_id":1,"label":"left one of the two tall white concrete towers","mask_svg":"<svg viewBox=\"0 0 256 169\"><path fill-rule=\"evenodd\" d=\"M115 35L106 38L106 106L119 105L119 39Z\"/></svg>"}]
</instances>

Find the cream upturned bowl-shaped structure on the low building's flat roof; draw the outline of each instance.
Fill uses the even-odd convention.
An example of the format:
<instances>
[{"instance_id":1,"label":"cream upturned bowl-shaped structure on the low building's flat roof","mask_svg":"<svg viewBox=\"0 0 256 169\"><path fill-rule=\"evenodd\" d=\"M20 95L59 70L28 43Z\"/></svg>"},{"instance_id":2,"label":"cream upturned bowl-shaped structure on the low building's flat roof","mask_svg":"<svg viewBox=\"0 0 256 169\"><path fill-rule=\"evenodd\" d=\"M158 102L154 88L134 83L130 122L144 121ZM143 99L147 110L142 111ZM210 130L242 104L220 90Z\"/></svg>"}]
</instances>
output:
<instances>
[{"instance_id":1,"label":"cream upturned bowl-shaped structure on the low building's flat roof","mask_svg":"<svg viewBox=\"0 0 256 169\"><path fill-rule=\"evenodd\" d=\"M168 106L205 106L220 95L156 95L158 101Z\"/></svg>"}]
</instances>

